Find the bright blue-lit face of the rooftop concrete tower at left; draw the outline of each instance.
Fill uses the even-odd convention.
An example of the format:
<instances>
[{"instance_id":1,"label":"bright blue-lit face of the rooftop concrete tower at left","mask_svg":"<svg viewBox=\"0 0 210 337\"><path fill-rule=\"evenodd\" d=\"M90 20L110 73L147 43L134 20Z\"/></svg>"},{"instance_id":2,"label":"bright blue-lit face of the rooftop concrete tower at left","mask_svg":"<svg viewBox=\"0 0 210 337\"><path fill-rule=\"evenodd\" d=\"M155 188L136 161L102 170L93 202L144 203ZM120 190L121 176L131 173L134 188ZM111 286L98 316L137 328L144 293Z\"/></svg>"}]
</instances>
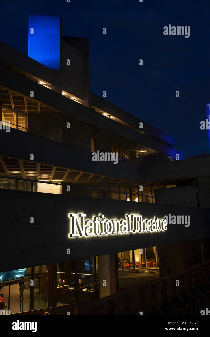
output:
<instances>
[{"instance_id":1,"label":"bright blue-lit face of the rooftop concrete tower at left","mask_svg":"<svg viewBox=\"0 0 210 337\"><path fill-rule=\"evenodd\" d=\"M60 70L60 17L29 15L28 56Z\"/></svg>"}]
</instances>

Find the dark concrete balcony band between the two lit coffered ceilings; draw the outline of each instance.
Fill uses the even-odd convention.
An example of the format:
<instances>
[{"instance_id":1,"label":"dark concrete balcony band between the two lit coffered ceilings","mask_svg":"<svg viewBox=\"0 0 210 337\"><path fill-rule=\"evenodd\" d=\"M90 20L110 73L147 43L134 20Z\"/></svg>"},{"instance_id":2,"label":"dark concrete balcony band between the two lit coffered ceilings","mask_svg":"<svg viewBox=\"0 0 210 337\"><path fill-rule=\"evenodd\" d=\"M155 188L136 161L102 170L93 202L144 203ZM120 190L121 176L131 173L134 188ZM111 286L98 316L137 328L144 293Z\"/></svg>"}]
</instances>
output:
<instances>
[{"instance_id":1,"label":"dark concrete balcony band between the two lit coffered ceilings","mask_svg":"<svg viewBox=\"0 0 210 337\"><path fill-rule=\"evenodd\" d=\"M108 119L108 118L107 118ZM82 136L82 135L81 135ZM111 161L92 161L92 152L67 144L61 144L28 132L11 129L0 132L0 154L14 158L34 161L104 175L123 180L139 182L139 167L122 160L117 164Z\"/></svg>"}]
</instances>

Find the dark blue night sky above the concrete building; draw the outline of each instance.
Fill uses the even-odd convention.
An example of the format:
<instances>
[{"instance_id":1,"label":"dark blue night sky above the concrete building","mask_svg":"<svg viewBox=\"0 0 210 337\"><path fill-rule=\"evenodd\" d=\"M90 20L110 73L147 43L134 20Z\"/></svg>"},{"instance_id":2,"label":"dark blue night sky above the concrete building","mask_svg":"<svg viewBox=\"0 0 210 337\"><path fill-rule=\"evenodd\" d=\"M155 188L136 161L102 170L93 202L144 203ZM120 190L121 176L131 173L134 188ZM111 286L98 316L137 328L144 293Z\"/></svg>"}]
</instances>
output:
<instances>
[{"instance_id":1,"label":"dark blue night sky above the concrete building","mask_svg":"<svg viewBox=\"0 0 210 337\"><path fill-rule=\"evenodd\" d=\"M106 90L108 101L175 137L186 155L209 152L200 122L210 102L210 1L70 1L2 0L0 40L27 55L29 14L60 16L62 35L89 39L92 92ZM163 35L169 24L190 26L190 37Z\"/></svg>"}]
</instances>

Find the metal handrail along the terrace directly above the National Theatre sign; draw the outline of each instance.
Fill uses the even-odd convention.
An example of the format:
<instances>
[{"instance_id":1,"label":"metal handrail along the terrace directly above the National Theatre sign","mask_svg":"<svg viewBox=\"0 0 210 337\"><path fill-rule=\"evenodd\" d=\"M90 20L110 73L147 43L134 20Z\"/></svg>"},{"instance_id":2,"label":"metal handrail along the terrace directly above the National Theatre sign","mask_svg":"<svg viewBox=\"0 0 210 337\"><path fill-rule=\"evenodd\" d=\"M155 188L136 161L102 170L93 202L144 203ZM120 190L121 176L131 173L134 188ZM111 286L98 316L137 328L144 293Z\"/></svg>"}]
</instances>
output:
<instances>
[{"instance_id":1,"label":"metal handrail along the terrace directly above the National Theatre sign","mask_svg":"<svg viewBox=\"0 0 210 337\"><path fill-rule=\"evenodd\" d=\"M23 180L23 181L29 181L31 183L35 182L35 183L44 183L44 184L52 184L52 185L60 185L60 186L70 186L70 187L76 187L76 188L82 188L84 190L84 195L85 196L85 190L96 190L96 191L102 191L102 192L113 192L113 193L117 193L119 194L119 200L120 199L120 194L128 194L128 195L136 195L136 196L144 196L146 197L146 203L147 203L147 198L157 198L157 199L164 199L166 200L166 205L167 205L167 200L172 200L172 201L178 201L178 202L182 202L182 206L183 203L190 203L190 204L196 204L197 206L200 204L209 204L209 203L198 203L198 202L193 202L193 201L185 201L185 200L178 200L178 199L172 199L172 198L164 198L164 197L160 197L160 196L152 196L152 195L146 195L146 194L138 194L138 193L129 193L129 192L121 192L121 191L112 191L112 190L104 190L104 189L100 189L100 188L94 188L94 187L84 187L84 186L78 186L78 185L70 185L70 184L64 184L64 183L53 183L51 181L42 181L42 180L36 180L36 179L28 179L28 178L19 178L19 177L11 177L11 176L3 176L0 175L0 178L6 178L6 179L14 179L14 180ZM138 187L137 187L138 188ZM33 192L33 188L31 189L31 192ZM47 193L47 192L46 192ZM132 200L130 200L132 201Z\"/></svg>"}]
</instances>

